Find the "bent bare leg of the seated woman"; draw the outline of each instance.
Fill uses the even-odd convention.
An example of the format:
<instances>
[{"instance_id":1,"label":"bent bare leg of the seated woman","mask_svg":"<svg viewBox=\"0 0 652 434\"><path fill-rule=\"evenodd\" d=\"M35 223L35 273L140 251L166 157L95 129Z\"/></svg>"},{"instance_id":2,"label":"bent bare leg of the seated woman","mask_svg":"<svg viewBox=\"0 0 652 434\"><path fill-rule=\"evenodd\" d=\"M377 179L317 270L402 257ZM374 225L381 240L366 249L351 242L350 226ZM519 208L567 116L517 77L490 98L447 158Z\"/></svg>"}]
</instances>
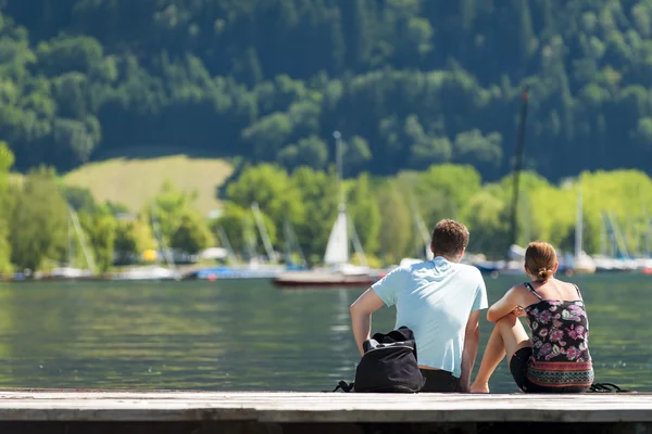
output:
<instances>
[{"instance_id":1,"label":"bent bare leg of the seated woman","mask_svg":"<svg viewBox=\"0 0 652 434\"><path fill-rule=\"evenodd\" d=\"M471 392L489 393L489 378L505 354L510 355L509 363L514 353L528 346L531 346L529 336L515 315L510 314L496 321L496 327L485 348L480 369L471 385Z\"/></svg>"}]
</instances>

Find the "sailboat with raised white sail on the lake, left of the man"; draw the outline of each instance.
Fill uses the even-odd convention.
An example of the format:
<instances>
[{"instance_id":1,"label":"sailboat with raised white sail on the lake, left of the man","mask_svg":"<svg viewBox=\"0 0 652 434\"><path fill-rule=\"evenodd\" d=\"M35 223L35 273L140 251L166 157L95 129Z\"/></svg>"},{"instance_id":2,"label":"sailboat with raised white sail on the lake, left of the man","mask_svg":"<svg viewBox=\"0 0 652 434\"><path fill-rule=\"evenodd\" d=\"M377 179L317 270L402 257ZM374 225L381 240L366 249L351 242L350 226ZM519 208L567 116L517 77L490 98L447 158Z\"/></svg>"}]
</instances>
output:
<instances>
[{"instance_id":1,"label":"sailboat with raised white sail on the lake, left of the man","mask_svg":"<svg viewBox=\"0 0 652 434\"><path fill-rule=\"evenodd\" d=\"M360 239L347 214L341 186L341 135L339 131L335 131L333 136L336 140L339 203L337 217L324 253L324 267L311 271L285 272L273 280L274 284L278 286L364 286L374 283L379 277L367 266ZM350 263L349 245L351 242L361 258L362 266Z\"/></svg>"}]
</instances>

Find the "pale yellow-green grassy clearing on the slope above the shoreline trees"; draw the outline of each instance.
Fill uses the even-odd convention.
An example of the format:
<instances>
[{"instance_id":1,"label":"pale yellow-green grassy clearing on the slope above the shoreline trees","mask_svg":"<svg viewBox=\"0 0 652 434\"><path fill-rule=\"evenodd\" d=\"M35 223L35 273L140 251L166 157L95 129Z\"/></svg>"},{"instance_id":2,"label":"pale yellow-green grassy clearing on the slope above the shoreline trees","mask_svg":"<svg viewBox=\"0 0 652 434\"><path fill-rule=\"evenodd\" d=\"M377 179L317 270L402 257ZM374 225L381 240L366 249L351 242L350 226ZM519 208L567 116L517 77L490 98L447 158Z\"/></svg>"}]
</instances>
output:
<instances>
[{"instance_id":1,"label":"pale yellow-green grassy clearing on the slope above the shoreline trees","mask_svg":"<svg viewBox=\"0 0 652 434\"><path fill-rule=\"evenodd\" d=\"M97 201L122 203L139 210L168 179L178 189L197 191L197 207L205 215L218 206L216 190L231 173L233 166L218 158L111 158L65 174L63 182L88 188Z\"/></svg>"}]
</instances>

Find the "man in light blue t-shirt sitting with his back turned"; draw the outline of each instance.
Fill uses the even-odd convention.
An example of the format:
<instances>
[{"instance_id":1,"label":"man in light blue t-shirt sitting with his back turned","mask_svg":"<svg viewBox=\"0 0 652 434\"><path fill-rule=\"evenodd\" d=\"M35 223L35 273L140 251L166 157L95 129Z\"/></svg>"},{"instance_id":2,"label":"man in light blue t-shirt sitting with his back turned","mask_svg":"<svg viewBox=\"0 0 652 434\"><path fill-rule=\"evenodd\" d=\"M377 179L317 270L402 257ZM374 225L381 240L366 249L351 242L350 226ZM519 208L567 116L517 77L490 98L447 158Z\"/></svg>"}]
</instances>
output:
<instances>
[{"instance_id":1,"label":"man in light blue t-shirt sitting with his back turned","mask_svg":"<svg viewBox=\"0 0 652 434\"><path fill-rule=\"evenodd\" d=\"M467 244L464 225L439 221L432 230L432 260L392 270L351 305L361 354L371 336L372 314L383 305L397 306L396 328L405 326L414 332L417 361L426 379L422 392L469 390L487 290L477 268L460 264Z\"/></svg>"}]
</instances>

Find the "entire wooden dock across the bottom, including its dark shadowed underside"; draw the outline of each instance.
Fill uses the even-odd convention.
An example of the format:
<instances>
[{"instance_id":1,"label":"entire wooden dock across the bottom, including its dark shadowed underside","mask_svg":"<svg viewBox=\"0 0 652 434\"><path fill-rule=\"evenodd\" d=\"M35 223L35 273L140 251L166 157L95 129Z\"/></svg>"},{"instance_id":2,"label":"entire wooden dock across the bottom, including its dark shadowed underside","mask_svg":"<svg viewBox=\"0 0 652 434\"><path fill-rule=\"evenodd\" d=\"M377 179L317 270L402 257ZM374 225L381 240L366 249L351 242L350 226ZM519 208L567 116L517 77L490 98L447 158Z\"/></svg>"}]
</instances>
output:
<instances>
[{"instance_id":1,"label":"entire wooden dock across the bottom, including its dark shadowed underside","mask_svg":"<svg viewBox=\"0 0 652 434\"><path fill-rule=\"evenodd\" d=\"M512 430L561 434L570 429L652 433L652 394L0 391L3 434Z\"/></svg>"}]
</instances>

